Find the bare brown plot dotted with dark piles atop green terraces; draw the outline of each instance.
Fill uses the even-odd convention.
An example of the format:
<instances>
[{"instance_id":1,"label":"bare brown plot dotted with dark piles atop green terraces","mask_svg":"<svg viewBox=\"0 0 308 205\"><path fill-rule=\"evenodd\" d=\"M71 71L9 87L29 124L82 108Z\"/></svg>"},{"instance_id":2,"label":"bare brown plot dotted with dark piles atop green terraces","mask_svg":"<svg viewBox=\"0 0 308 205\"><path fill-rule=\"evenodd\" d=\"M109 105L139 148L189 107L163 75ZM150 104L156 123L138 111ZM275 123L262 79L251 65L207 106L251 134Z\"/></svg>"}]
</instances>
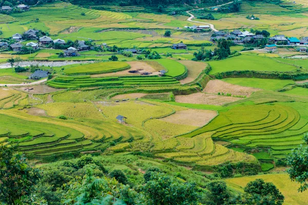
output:
<instances>
[{"instance_id":1,"label":"bare brown plot dotted with dark piles atop green terraces","mask_svg":"<svg viewBox=\"0 0 308 205\"><path fill-rule=\"evenodd\" d=\"M102 76L123 76L123 75L141 75L143 72L151 73L149 75L158 75L158 71L153 68L151 65L143 61L131 61L127 62L130 65L130 69L115 73L104 73L98 75L92 75L93 77L102 77ZM155 62L156 63L156 62ZM130 73L129 71L138 71L137 73Z\"/></svg>"}]
</instances>

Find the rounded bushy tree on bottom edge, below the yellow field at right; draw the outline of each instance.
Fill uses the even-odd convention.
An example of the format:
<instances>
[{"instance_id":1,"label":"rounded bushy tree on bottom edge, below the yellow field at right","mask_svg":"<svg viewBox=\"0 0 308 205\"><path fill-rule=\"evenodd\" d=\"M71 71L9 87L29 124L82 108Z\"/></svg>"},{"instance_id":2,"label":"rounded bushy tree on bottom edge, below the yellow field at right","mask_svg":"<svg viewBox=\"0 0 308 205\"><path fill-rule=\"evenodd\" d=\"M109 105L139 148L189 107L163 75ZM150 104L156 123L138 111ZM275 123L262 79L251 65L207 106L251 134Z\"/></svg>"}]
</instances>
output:
<instances>
[{"instance_id":1,"label":"rounded bushy tree on bottom edge, below the yellow field at right","mask_svg":"<svg viewBox=\"0 0 308 205\"><path fill-rule=\"evenodd\" d=\"M276 186L271 182L264 182L263 179L248 182L244 191L242 204L282 205L284 201L284 196Z\"/></svg>"}]
</instances>

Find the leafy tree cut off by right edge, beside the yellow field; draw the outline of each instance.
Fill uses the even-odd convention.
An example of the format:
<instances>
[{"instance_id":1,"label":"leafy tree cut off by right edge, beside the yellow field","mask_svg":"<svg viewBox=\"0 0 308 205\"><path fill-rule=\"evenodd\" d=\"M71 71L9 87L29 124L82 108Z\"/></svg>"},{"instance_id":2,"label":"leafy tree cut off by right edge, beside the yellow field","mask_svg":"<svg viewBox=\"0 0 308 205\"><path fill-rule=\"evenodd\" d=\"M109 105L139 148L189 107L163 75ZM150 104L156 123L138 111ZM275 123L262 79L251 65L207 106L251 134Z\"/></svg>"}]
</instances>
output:
<instances>
[{"instance_id":1,"label":"leafy tree cut off by right edge, beside the yellow field","mask_svg":"<svg viewBox=\"0 0 308 205\"><path fill-rule=\"evenodd\" d=\"M304 135L304 141L308 145L308 134ZM297 150L293 150L287 158L288 165L291 167L287 170L291 180L300 183L298 191L303 192L308 189L308 147L300 145Z\"/></svg>"}]
</instances>

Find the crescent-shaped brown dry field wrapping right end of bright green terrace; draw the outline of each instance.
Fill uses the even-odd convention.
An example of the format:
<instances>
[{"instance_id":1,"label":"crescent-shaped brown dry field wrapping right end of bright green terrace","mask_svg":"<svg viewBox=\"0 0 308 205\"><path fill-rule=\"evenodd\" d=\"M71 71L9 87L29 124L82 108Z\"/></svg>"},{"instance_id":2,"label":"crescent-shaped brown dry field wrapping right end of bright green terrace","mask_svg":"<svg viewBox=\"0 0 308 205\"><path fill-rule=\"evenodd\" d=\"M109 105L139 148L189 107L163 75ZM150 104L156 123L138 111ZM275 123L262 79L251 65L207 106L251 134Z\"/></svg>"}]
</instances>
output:
<instances>
[{"instance_id":1,"label":"crescent-shaped brown dry field wrapping right end of bright green terrace","mask_svg":"<svg viewBox=\"0 0 308 205\"><path fill-rule=\"evenodd\" d=\"M198 75L206 68L207 64L192 60L179 60L179 63L186 66L188 70L188 76L180 80L181 84L187 84L194 81Z\"/></svg>"}]
</instances>

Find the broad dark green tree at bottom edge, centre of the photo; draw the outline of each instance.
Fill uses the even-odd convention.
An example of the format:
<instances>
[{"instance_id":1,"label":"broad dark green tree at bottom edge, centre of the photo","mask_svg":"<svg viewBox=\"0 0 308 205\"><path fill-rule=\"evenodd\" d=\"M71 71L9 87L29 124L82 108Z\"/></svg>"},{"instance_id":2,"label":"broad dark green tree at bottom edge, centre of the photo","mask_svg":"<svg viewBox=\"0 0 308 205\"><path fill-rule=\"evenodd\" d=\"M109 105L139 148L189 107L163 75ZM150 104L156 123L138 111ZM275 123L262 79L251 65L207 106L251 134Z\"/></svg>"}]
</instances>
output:
<instances>
[{"instance_id":1,"label":"broad dark green tree at bottom edge, centre of the photo","mask_svg":"<svg viewBox=\"0 0 308 205\"><path fill-rule=\"evenodd\" d=\"M197 204L197 186L183 183L164 173L154 172L143 187L148 204Z\"/></svg>"}]
</instances>

